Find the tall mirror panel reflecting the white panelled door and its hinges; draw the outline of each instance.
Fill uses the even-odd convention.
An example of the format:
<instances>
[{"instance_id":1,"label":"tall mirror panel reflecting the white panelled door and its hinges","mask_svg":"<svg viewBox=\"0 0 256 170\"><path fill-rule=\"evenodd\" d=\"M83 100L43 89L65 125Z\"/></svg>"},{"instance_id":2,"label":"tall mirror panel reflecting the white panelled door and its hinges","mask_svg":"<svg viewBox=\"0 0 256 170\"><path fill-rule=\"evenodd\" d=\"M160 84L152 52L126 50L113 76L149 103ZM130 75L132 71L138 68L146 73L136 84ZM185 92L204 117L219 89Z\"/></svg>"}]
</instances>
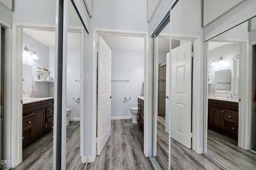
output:
<instances>
[{"instance_id":1,"label":"tall mirror panel reflecting the white panelled door and its hinges","mask_svg":"<svg viewBox=\"0 0 256 170\"><path fill-rule=\"evenodd\" d=\"M198 132L202 77L202 1L179 0L171 10L170 137L172 169L218 169L202 153ZM176 45L175 45L176 42ZM216 58L217 59L217 58ZM184 163L185 162L185 163ZM198 164L200 162L200 164Z\"/></svg>"}]
</instances>

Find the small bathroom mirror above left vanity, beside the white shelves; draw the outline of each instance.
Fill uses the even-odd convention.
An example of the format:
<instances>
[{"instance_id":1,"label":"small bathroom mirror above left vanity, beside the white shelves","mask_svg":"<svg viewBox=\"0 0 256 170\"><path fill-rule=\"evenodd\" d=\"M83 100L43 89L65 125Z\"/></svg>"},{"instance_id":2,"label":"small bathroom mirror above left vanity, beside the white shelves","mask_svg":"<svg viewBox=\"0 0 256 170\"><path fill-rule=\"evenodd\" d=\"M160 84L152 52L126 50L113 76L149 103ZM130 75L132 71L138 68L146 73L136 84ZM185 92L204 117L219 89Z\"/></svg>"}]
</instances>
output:
<instances>
[{"instance_id":1,"label":"small bathroom mirror above left vanity, beside the white shelves","mask_svg":"<svg viewBox=\"0 0 256 170\"><path fill-rule=\"evenodd\" d=\"M22 89L24 98L29 98L32 95L32 66L23 64L22 70Z\"/></svg>"}]
</instances>

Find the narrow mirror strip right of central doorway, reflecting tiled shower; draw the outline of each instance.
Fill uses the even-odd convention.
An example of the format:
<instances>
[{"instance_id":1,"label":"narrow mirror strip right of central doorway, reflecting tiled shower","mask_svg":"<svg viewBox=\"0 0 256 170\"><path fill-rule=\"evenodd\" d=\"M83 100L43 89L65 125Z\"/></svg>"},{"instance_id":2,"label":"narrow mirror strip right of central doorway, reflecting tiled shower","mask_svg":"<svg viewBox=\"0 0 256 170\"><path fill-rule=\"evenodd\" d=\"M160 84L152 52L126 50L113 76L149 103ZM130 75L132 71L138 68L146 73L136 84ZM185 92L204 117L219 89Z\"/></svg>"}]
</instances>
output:
<instances>
[{"instance_id":1,"label":"narrow mirror strip right of central doorway, reflecting tiled shower","mask_svg":"<svg viewBox=\"0 0 256 170\"><path fill-rule=\"evenodd\" d=\"M170 23L165 26L156 42L156 160L162 169L168 169L169 158L169 59Z\"/></svg>"}]
</instances>

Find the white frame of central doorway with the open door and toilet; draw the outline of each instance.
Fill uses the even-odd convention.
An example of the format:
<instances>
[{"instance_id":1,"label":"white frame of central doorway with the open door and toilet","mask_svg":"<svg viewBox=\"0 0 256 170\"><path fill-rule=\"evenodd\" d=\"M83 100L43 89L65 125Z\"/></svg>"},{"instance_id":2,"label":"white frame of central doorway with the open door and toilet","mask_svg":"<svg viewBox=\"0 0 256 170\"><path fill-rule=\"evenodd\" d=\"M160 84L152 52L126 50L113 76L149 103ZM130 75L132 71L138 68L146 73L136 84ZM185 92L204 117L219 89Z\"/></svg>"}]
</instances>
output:
<instances>
[{"instance_id":1,"label":"white frame of central doorway with the open door and toilet","mask_svg":"<svg viewBox=\"0 0 256 170\"><path fill-rule=\"evenodd\" d=\"M150 55L149 55L149 35L148 32L138 32L130 30L115 30L115 29L104 29L104 28L93 28L93 41L92 41L92 160L96 159L96 128L97 128L97 39L99 34L108 35L122 35L122 36L133 36L144 38L144 155L150 156L152 153L152 119L150 113L153 113L152 97L150 94L153 90L153 80L150 77L150 73L153 72L150 67ZM150 84L151 83L151 84ZM88 105L90 105L88 101Z\"/></svg>"}]
</instances>

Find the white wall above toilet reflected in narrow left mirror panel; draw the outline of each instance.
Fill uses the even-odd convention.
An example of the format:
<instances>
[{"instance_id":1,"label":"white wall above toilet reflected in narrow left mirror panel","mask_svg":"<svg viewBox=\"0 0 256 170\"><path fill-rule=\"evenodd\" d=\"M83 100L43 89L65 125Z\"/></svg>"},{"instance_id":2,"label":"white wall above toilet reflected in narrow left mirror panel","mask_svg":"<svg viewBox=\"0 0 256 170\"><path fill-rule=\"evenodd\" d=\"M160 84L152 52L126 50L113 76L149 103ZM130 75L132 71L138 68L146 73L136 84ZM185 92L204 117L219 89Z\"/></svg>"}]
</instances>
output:
<instances>
[{"instance_id":1,"label":"white wall above toilet reflected in narrow left mirror panel","mask_svg":"<svg viewBox=\"0 0 256 170\"><path fill-rule=\"evenodd\" d=\"M81 97L80 95L80 65L81 49L68 48L67 59L67 108L71 109L69 118L80 118L80 101L74 101L72 98Z\"/></svg>"}]
</instances>

